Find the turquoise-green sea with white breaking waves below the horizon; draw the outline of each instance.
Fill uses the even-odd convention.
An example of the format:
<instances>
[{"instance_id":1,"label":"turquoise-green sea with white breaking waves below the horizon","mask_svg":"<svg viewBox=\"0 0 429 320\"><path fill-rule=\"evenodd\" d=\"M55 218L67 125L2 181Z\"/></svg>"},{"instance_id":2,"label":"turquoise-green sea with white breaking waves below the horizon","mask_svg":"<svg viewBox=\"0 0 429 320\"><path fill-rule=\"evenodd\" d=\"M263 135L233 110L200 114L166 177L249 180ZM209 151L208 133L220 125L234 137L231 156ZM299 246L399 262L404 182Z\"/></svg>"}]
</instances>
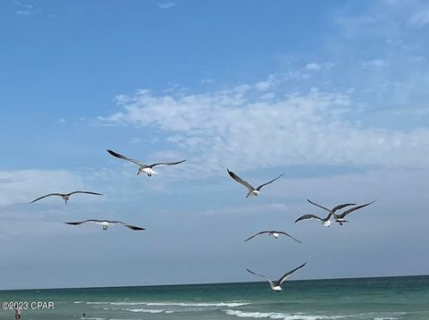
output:
<instances>
[{"instance_id":1,"label":"turquoise-green sea with white breaking waves below the horizon","mask_svg":"<svg viewBox=\"0 0 429 320\"><path fill-rule=\"evenodd\" d=\"M429 276L0 291L0 301L53 301L21 319L428 320ZM85 314L85 316L83 316ZM0 310L0 319L13 319Z\"/></svg>"}]
</instances>

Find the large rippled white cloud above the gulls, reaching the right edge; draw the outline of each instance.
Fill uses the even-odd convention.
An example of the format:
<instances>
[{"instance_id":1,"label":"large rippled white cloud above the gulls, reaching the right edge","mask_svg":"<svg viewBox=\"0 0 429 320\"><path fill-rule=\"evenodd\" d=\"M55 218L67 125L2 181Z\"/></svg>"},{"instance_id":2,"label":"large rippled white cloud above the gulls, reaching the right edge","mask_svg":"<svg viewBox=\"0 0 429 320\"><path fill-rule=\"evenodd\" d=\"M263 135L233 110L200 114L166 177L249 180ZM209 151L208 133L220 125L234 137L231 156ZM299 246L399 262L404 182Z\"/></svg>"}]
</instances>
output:
<instances>
[{"instance_id":1,"label":"large rippled white cloud above the gulls, reaching the right edge","mask_svg":"<svg viewBox=\"0 0 429 320\"><path fill-rule=\"evenodd\" d=\"M167 141L193 155L188 166L207 173L226 164L240 170L294 164L429 167L429 130L357 124L362 109L348 95L313 88L270 100L261 96L257 85L248 84L200 95L139 90L117 97L122 111L100 119L164 131Z\"/></svg>"}]
</instances>

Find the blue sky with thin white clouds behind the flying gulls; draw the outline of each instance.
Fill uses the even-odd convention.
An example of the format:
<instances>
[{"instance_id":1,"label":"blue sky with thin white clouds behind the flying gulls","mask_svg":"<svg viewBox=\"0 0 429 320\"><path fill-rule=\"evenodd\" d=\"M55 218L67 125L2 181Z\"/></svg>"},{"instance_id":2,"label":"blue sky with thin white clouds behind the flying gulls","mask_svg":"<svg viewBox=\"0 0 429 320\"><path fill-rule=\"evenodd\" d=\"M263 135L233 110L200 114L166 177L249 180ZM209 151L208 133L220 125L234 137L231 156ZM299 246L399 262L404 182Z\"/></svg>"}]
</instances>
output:
<instances>
[{"instance_id":1,"label":"blue sky with thin white clouds behind the flying gulls","mask_svg":"<svg viewBox=\"0 0 429 320\"><path fill-rule=\"evenodd\" d=\"M4 1L0 32L0 289L428 273L424 1ZM73 189L105 196L29 205ZM304 243L242 243L273 228Z\"/></svg>"}]
</instances>

